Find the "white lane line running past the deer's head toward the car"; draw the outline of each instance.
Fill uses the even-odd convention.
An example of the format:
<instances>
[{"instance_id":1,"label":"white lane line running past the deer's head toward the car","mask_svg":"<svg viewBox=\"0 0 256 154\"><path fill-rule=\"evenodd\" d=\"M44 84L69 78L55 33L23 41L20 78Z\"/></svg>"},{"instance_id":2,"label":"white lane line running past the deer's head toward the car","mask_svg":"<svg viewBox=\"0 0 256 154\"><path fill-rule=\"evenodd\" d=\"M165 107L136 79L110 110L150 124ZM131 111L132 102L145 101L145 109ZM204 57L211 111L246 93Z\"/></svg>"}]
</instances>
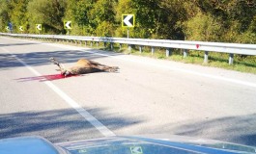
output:
<instances>
[{"instance_id":1,"label":"white lane line running past the deer's head toward the car","mask_svg":"<svg viewBox=\"0 0 256 154\"><path fill-rule=\"evenodd\" d=\"M42 76L41 73L39 73L36 69L34 69L32 66L26 64L19 58L17 58L15 55L13 55L9 50L2 47L2 49L7 52L8 54L12 55L20 64L23 64L26 66L30 71L32 71L35 75ZM51 90L54 90L60 97L62 97L73 109L75 109L81 116L83 116L87 121L89 121L93 126L96 127L100 131L100 133L105 137L113 137L116 136L112 131L110 131L107 127L105 127L96 117L92 116L90 113L88 113L85 109L80 107L78 103L76 103L71 97L66 94L63 90L60 90L58 87L56 87L54 84L52 84L50 81L43 82L45 85L47 85Z\"/></svg>"}]
</instances>

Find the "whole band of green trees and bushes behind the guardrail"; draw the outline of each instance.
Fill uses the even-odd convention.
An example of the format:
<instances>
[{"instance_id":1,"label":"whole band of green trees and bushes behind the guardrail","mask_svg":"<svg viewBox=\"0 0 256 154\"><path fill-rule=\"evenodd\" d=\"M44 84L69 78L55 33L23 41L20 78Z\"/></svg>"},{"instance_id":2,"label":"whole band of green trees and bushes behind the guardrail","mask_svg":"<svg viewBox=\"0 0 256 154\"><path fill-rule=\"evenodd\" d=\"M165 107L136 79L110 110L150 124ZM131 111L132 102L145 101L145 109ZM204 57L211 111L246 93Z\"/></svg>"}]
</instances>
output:
<instances>
[{"instance_id":1,"label":"whole band of green trees and bushes behind the guardrail","mask_svg":"<svg viewBox=\"0 0 256 154\"><path fill-rule=\"evenodd\" d=\"M189 39L256 43L253 0L0 0L0 31L9 22L24 33L142 39ZM135 14L135 27L122 28L122 14Z\"/></svg>"}]
</instances>

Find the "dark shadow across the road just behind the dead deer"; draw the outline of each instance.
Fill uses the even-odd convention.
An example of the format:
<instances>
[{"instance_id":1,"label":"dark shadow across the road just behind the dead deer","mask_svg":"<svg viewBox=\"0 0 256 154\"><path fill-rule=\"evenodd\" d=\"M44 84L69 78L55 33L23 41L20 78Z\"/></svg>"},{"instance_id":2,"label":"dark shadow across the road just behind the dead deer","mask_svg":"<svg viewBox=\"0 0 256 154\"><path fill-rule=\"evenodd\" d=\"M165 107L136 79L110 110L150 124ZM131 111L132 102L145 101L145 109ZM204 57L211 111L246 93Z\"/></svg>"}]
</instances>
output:
<instances>
[{"instance_id":1,"label":"dark shadow across the road just behind the dead deer","mask_svg":"<svg viewBox=\"0 0 256 154\"><path fill-rule=\"evenodd\" d=\"M1 47L1 46L0 46ZM51 64L49 58L54 57L62 64L75 63L77 60L81 58L85 58L88 60L94 60L99 58L104 58L104 55L118 56L121 54L112 53L112 52L104 52L100 51L100 54L95 54L99 50L95 50L95 53L86 52L91 49L84 49L84 51L80 50L59 50L59 51L45 51L45 52L33 52L33 53L15 53L15 54L0 54L0 70L13 68L13 67L22 67L23 64L20 64L15 58L18 58L31 66ZM0 50L1 51L1 50ZM104 55L102 55L102 52ZM107 64L106 64L107 65ZM56 67L57 68L57 67Z\"/></svg>"}]
</instances>

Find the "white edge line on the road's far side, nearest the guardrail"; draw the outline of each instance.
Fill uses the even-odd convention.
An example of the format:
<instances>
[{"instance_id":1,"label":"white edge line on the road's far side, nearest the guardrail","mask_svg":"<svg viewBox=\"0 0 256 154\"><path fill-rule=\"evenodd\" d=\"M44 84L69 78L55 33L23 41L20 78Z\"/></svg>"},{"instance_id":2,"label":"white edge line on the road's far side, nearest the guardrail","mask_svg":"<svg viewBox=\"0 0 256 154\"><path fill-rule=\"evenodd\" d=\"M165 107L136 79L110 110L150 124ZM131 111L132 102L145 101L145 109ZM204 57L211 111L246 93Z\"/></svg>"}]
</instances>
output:
<instances>
[{"instance_id":1,"label":"white edge line on the road's far side, nearest the guardrail","mask_svg":"<svg viewBox=\"0 0 256 154\"><path fill-rule=\"evenodd\" d=\"M58 46L58 47L67 48L67 49L70 49L70 50L73 50L73 48L74 48L74 47L61 46L61 45L58 45L58 44L50 44L50 43L47 43L47 45ZM180 71L180 72L184 72L184 73L188 73L188 74L193 74L193 75L197 75L197 76L202 76L202 77L206 77L206 78L211 78L211 79L215 79L215 80L226 81L226 82L230 82L230 83L235 83L235 84L239 84L239 85L243 85L243 86L248 86L248 87L256 88L256 84L255 83L241 81L241 80L237 80L237 79L231 79L231 78L225 78L225 77L221 77L221 76L217 76L217 75L200 73L200 72L196 72L196 71L192 71L192 70L187 70L187 69L184 69L184 68L176 68L176 67L172 67L171 65L152 64L152 63L149 63L149 62L142 62L142 61L125 59L125 58L117 57L117 56L100 54L100 53L96 53L96 52L93 52L93 51L85 51L85 49L81 49L81 48L78 48L78 47L77 47L77 50L78 51L87 52L87 53L90 53L90 54L104 56L104 57L111 57L113 59L119 59L119 60L122 60L122 61L128 61L128 62L138 63L138 64L152 65L152 66L156 66L156 67L160 67L160 68L165 68L165 69L169 69L169 70Z\"/></svg>"}]
</instances>

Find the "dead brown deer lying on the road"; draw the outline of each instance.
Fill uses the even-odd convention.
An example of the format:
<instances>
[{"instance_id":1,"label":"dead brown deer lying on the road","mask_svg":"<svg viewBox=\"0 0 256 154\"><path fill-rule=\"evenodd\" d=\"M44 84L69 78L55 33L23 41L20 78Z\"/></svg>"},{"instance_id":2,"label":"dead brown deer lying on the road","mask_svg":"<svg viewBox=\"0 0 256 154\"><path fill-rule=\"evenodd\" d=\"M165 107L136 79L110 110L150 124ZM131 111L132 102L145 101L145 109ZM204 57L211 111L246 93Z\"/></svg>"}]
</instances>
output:
<instances>
[{"instance_id":1,"label":"dead brown deer lying on the road","mask_svg":"<svg viewBox=\"0 0 256 154\"><path fill-rule=\"evenodd\" d=\"M68 76L68 75L78 75L78 74L86 74L86 73L93 73L98 71L108 71L108 72L116 72L118 71L118 66L108 66L104 64L99 64L94 61L80 59L76 62L74 66L70 68L65 68L63 64L60 64L56 59L50 58L50 61L53 64L58 65L60 68L61 74Z\"/></svg>"}]
</instances>

